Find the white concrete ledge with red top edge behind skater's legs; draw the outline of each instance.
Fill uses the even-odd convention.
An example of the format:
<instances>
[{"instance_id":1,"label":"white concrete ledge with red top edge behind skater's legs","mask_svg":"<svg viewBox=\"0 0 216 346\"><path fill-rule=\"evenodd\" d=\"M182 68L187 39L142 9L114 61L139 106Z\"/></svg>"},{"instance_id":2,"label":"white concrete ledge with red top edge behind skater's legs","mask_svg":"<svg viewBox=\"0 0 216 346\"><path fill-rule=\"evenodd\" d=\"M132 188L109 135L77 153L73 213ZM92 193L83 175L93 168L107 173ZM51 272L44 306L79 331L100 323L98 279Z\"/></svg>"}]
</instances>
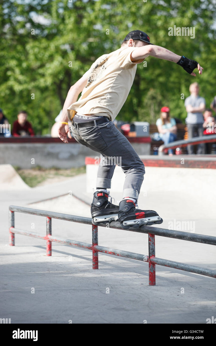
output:
<instances>
[{"instance_id":1,"label":"white concrete ledge with red top edge behind skater's legs","mask_svg":"<svg viewBox=\"0 0 216 346\"><path fill-rule=\"evenodd\" d=\"M99 154L98 154L99 155ZM175 155L161 158L158 156L140 156L145 165L144 182L140 192L166 191L184 193L185 198L188 193L194 198L202 197L208 200L206 186L210 186L211 195L216 194L215 169L216 157ZM86 190L92 192L96 186L96 176L101 156L86 157ZM116 158L116 163L118 163ZM110 162L113 162L110 159ZM112 164L112 163L111 163ZM125 174L121 167L116 165L112 177L112 191L123 191ZM207 184L207 185L206 185ZM145 195L146 195L145 194ZM214 202L215 203L215 202Z\"/></svg>"}]
</instances>

